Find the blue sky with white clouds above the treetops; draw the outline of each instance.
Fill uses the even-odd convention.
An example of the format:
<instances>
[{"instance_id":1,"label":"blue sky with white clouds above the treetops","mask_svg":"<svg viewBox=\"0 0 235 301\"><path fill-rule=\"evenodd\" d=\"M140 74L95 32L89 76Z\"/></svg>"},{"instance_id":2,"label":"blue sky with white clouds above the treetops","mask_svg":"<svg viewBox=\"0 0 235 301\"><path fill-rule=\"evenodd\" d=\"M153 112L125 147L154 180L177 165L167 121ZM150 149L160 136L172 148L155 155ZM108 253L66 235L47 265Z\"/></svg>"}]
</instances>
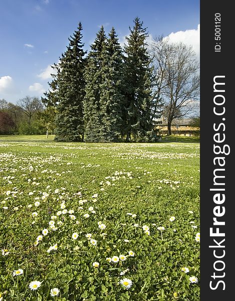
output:
<instances>
[{"instance_id":1,"label":"blue sky with white clouds above the treetops","mask_svg":"<svg viewBox=\"0 0 235 301\"><path fill-rule=\"evenodd\" d=\"M0 99L17 103L43 96L50 65L66 50L81 21L89 50L101 25L125 42L139 17L151 37L170 36L194 47L199 58L199 0L2 0L0 1Z\"/></svg>"}]
</instances>

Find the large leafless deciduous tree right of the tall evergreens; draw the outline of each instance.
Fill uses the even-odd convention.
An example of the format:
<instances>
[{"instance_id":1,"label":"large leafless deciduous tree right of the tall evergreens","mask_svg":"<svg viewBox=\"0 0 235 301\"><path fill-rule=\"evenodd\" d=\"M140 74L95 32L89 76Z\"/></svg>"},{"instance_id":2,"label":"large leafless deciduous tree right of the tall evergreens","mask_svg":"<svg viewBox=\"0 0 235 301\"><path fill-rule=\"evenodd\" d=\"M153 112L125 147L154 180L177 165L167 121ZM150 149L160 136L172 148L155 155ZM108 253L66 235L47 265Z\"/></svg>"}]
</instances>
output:
<instances>
[{"instance_id":1,"label":"large leafless deciduous tree right of the tall evergreens","mask_svg":"<svg viewBox=\"0 0 235 301\"><path fill-rule=\"evenodd\" d=\"M163 103L162 115L167 120L167 132L175 118L198 111L199 63L192 47L155 38L150 45L154 68L155 97Z\"/></svg>"}]
</instances>

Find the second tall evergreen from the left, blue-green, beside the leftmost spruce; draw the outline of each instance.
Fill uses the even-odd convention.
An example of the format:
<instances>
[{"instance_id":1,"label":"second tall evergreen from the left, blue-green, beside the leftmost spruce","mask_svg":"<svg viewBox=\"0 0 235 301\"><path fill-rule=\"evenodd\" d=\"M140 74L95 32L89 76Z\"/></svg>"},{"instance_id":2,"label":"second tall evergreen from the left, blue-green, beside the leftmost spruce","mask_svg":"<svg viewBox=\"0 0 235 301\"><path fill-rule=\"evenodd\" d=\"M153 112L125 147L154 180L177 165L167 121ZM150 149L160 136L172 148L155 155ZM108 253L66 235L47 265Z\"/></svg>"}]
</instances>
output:
<instances>
[{"instance_id":1,"label":"second tall evergreen from the left, blue-green, beside the leftmost spruce","mask_svg":"<svg viewBox=\"0 0 235 301\"><path fill-rule=\"evenodd\" d=\"M104 133L102 88L105 83L107 38L102 26L88 55L85 71L86 95L84 100L85 141L99 142Z\"/></svg>"}]
</instances>

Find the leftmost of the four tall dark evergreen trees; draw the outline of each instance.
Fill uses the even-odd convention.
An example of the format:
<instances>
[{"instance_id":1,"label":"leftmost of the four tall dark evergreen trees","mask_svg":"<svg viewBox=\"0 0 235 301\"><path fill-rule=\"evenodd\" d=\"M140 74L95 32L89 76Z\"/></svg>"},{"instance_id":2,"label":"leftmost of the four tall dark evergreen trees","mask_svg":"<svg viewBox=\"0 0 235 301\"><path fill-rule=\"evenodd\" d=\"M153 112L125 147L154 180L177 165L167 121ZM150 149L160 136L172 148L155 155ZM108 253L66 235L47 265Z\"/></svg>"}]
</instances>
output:
<instances>
[{"instance_id":1,"label":"leftmost of the four tall dark evergreen trees","mask_svg":"<svg viewBox=\"0 0 235 301\"><path fill-rule=\"evenodd\" d=\"M82 40L82 24L69 38L69 46L59 63L56 89L58 99L56 116L56 139L82 141L84 135L83 100L85 94L85 54Z\"/></svg>"}]
</instances>

